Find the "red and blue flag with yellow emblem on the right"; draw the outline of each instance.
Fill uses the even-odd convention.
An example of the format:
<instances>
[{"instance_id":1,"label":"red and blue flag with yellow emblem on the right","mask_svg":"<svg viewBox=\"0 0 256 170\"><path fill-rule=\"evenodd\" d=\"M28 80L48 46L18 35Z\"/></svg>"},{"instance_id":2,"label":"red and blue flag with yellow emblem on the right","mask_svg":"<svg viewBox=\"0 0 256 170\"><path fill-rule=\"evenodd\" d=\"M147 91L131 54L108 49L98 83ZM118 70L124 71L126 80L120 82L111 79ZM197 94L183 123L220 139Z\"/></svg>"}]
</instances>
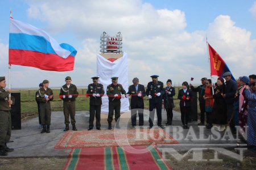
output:
<instances>
[{"instance_id":1,"label":"red and blue flag with yellow emblem on the right","mask_svg":"<svg viewBox=\"0 0 256 170\"><path fill-rule=\"evenodd\" d=\"M230 72L228 65L221 58L221 56L215 51L215 49L208 44L209 56L210 56L210 75L216 75L218 77L224 77L223 73ZM230 72L231 73L231 72ZM232 79L235 80L232 74Z\"/></svg>"}]
</instances>

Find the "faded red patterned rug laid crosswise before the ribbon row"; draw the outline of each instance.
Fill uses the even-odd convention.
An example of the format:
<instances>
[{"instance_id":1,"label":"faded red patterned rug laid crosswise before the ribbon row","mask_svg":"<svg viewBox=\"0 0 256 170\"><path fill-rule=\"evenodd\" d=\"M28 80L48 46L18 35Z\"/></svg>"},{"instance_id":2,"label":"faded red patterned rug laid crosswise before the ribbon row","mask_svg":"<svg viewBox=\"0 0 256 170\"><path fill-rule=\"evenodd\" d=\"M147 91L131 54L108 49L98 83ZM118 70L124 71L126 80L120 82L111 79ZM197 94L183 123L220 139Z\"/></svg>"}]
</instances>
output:
<instances>
[{"instance_id":1,"label":"faded red patterned rug laid crosswise before the ribbon row","mask_svg":"<svg viewBox=\"0 0 256 170\"><path fill-rule=\"evenodd\" d=\"M176 140L161 128L125 130L67 131L55 148L86 148L112 146L149 146L176 144Z\"/></svg>"}]
</instances>

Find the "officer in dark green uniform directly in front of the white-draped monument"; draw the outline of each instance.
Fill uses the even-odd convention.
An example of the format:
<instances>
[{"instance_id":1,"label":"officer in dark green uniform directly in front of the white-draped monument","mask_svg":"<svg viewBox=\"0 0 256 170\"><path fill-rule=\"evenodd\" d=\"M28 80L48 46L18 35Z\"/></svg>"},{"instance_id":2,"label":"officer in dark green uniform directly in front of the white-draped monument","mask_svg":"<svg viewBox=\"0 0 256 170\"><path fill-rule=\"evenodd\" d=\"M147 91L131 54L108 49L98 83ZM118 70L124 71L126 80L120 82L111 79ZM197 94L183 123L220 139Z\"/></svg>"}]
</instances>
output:
<instances>
[{"instance_id":1,"label":"officer in dark green uniform directly in front of the white-draped monument","mask_svg":"<svg viewBox=\"0 0 256 170\"><path fill-rule=\"evenodd\" d=\"M109 115L108 115L108 123L109 123L109 130L112 129L112 121L113 115L115 111L115 122L117 125L115 127L119 127L119 117L120 117L120 109L121 109L121 101L120 98L125 97L125 90L121 84L118 84L118 77L112 77L112 84L108 85L107 87L107 95L109 97Z\"/></svg>"}]
</instances>

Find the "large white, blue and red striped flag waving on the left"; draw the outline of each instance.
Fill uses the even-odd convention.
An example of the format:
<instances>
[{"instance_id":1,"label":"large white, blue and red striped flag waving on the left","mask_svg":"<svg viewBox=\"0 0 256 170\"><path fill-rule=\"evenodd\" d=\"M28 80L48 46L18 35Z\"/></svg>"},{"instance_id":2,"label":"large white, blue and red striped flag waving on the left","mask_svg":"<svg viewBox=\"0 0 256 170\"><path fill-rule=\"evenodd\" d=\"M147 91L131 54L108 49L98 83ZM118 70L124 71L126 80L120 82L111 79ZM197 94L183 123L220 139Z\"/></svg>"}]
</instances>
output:
<instances>
[{"instance_id":1,"label":"large white, blue and red striped flag waving on the left","mask_svg":"<svg viewBox=\"0 0 256 170\"><path fill-rule=\"evenodd\" d=\"M73 71L76 49L59 44L45 31L10 18L9 64L46 71Z\"/></svg>"}]
</instances>

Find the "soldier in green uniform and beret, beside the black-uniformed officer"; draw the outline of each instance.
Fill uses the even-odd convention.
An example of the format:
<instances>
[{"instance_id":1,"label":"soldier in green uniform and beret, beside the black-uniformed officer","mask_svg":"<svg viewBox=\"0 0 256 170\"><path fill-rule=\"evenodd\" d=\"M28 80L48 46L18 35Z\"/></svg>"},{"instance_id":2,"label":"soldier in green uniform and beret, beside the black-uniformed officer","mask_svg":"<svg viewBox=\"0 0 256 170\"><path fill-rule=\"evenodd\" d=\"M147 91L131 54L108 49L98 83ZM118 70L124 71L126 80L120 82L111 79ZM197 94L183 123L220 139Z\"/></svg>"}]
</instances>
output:
<instances>
[{"instance_id":1,"label":"soldier in green uniform and beret, beside the black-uniformed officer","mask_svg":"<svg viewBox=\"0 0 256 170\"><path fill-rule=\"evenodd\" d=\"M69 130L69 115L71 118L72 130L77 131L76 128L76 98L78 96L76 85L71 84L72 80L70 76L65 78L66 84L60 89L60 98L63 100L63 113L65 117L65 129Z\"/></svg>"}]
</instances>

